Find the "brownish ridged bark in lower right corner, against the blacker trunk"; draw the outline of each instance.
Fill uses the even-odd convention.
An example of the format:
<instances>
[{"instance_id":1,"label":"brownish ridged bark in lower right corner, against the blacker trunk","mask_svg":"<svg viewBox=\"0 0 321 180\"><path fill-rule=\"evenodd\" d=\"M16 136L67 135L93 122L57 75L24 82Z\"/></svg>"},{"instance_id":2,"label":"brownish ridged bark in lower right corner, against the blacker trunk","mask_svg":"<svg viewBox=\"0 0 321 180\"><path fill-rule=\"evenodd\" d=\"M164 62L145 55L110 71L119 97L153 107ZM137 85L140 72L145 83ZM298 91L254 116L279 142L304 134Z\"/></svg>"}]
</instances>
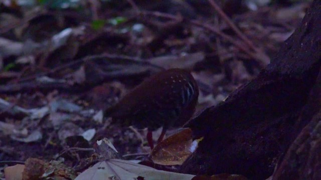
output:
<instances>
[{"instance_id":1,"label":"brownish ridged bark in lower right corner, against the blacker trunk","mask_svg":"<svg viewBox=\"0 0 321 180\"><path fill-rule=\"evenodd\" d=\"M320 71L321 72L321 71ZM277 165L273 180L321 179L321 73L300 118L310 118Z\"/></svg>"}]
</instances>

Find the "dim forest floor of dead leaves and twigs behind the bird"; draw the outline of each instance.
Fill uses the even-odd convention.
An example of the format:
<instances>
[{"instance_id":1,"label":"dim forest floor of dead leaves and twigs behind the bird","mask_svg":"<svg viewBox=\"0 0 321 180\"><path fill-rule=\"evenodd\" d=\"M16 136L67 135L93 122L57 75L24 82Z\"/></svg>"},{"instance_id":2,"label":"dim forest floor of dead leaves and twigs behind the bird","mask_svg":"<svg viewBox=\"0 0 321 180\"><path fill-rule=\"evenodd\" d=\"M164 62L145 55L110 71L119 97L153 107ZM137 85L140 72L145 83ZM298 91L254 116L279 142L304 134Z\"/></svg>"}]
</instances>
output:
<instances>
[{"instance_id":1,"label":"dim forest floor of dead leaves and twigs behind the bird","mask_svg":"<svg viewBox=\"0 0 321 180\"><path fill-rule=\"evenodd\" d=\"M310 5L18 2L0 2L0 161L37 157L72 167L104 137L124 159L148 159L147 130L112 123L103 110L175 67L196 79L197 111L220 103L269 63ZM0 177L8 164L0 163Z\"/></svg>"}]
</instances>

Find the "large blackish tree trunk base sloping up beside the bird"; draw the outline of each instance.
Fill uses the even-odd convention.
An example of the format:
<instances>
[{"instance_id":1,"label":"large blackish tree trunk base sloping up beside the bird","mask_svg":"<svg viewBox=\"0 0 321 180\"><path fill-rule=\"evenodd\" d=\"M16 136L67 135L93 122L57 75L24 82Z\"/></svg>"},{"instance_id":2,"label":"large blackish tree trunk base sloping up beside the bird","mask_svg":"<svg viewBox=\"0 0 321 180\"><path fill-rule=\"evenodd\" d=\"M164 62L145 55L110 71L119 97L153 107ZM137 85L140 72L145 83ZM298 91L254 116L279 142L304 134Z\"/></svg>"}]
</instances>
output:
<instances>
[{"instance_id":1,"label":"large blackish tree trunk base sloping up beside the bird","mask_svg":"<svg viewBox=\"0 0 321 180\"><path fill-rule=\"evenodd\" d=\"M321 0L314 0L301 25L257 78L225 102L191 119L204 136L181 171L243 174L265 179L311 118L302 116L321 62Z\"/></svg>"}]
</instances>

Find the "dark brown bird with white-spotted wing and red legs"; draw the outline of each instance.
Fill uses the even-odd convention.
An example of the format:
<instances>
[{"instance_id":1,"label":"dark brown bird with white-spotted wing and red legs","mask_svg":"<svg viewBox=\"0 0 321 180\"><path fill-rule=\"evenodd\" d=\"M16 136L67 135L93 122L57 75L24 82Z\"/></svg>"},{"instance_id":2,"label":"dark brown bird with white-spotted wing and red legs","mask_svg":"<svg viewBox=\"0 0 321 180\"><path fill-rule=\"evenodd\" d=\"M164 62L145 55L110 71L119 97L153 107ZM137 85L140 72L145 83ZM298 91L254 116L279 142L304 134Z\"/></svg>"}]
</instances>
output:
<instances>
[{"instance_id":1,"label":"dark brown bird with white-spotted wing and red legs","mask_svg":"<svg viewBox=\"0 0 321 180\"><path fill-rule=\"evenodd\" d=\"M168 128L182 126L193 115L199 88L193 75L171 68L155 73L106 110L112 121L138 129L147 127L147 142L153 148L152 131L162 127L157 143Z\"/></svg>"}]
</instances>

